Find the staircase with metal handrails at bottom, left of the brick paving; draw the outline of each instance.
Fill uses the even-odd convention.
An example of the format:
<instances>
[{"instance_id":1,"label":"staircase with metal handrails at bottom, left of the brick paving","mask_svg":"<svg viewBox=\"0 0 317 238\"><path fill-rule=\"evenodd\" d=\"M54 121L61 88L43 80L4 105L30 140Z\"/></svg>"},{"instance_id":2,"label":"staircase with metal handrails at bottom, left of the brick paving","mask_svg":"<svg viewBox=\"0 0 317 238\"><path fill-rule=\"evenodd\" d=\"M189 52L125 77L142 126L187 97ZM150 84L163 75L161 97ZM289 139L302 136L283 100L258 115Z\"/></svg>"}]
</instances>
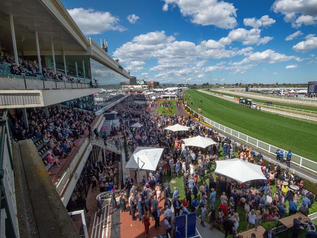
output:
<instances>
[{"instance_id":1,"label":"staircase with metal handrails at bottom, left of the brick paving","mask_svg":"<svg viewBox=\"0 0 317 238\"><path fill-rule=\"evenodd\" d=\"M105 205L106 204L106 205ZM109 238L111 230L111 203L109 200L103 201L102 214L95 213L94 224L90 238Z\"/></svg>"}]
</instances>

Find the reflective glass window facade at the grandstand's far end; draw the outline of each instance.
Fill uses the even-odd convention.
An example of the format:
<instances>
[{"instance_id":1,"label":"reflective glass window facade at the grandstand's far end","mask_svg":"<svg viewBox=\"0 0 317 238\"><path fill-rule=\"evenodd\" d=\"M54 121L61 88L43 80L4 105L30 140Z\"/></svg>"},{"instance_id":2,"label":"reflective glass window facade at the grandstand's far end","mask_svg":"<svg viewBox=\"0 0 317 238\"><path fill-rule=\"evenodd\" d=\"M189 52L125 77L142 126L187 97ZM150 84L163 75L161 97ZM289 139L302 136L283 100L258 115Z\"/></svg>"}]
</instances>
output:
<instances>
[{"instance_id":1,"label":"reflective glass window facade at the grandstand's far end","mask_svg":"<svg viewBox=\"0 0 317 238\"><path fill-rule=\"evenodd\" d=\"M101 86L120 87L120 82L129 80L94 59L90 59L90 72L91 78L97 79Z\"/></svg>"}]
</instances>

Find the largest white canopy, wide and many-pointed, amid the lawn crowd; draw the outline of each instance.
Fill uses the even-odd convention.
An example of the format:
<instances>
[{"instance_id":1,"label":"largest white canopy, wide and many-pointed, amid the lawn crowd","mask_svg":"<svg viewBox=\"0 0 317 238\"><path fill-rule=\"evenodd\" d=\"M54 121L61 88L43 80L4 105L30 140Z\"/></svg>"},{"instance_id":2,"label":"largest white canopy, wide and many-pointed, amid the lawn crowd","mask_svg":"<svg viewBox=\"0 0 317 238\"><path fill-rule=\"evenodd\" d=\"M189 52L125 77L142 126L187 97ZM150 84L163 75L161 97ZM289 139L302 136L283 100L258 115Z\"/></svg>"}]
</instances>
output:
<instances>
[{"instance_id":1,"label":"largest white canopy, wide and many-pointed, amid the lawn crowd","mask_svg":"<svg viewBox=\"0 0 317 238\"><path fill-rule=\"evenodd\" d=\"M261 171L261 166L257 164L240 159L217 160L215 163L216 174L224 175L239 183L257 179L266 180Z\"/></svg>"}]
</instances>

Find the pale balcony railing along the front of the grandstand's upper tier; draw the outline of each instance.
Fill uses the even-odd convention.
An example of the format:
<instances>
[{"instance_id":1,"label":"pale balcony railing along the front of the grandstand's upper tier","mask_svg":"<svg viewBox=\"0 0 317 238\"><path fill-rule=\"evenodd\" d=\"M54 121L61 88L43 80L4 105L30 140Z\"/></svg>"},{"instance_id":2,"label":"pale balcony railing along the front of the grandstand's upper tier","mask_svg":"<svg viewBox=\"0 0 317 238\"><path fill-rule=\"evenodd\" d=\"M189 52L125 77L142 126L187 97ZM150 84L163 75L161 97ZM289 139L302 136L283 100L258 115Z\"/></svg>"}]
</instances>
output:
<instances>
[{"instance_id":1,"label":"pale balcony railing along the front of the grandstand's upper tier","mask_svg":"<svg viewBox=\"0 0 317 238\"><path fill-rule=\"evenodd\" d=\"M53 79L23 79L0 77L0 90L25 90L25 89L72 89L90 88L89 83L58 81Z\"/></svg>"}]
</instances>

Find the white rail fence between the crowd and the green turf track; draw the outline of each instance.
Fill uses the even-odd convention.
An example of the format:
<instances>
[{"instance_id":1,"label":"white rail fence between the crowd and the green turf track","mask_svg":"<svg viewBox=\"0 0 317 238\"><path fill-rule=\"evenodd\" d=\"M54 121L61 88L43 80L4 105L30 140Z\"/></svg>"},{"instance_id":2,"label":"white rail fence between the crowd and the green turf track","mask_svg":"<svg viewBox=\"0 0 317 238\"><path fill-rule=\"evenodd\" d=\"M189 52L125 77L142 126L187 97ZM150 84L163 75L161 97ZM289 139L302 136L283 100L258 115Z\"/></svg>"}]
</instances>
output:
<instances>
[{"instance_id":1,"label":"white rail fence between the crowd and the green turf track","mask_svg":"<svg viewBox=\"0 0 317 238\"><path fill-rule=\"evenodd\" d=\"M190 108L190 107L188 107L188 108ZM191 110L193 110L193 109L191 109ZM218 130L223 131L223 132L229 134L230 136L235 137L235 138L237 138L239 140L242 140L242 141L244 141L244 142L246 142L248 144L251 144L251 145L257 147L258 149L264 150L264 151L268 152L269 154L276 155L276 151L278 149L277 146L268 144L268 143L266 143L264 141L255 139L255 138L250 137L248 135L245 135L245 134L243 134L241 132L238 132L238 131L236 131L234 129L231 129L229 127L221 125L220 123L218 123L216 121L213 121L211 119L208 119L208 118L202 116L201 114L199 114L196 111L194 111L194 113L196 113L197 115L200 115L204 119L204 121L206 123L214 126ZM284 151L284 155L287 155L288 150L284 150L284 149L281 149L281 150ZM302 168L310 170L310 171L312 171L314 173L317 173L317 162L315 162L315 161L312 161L310 159L306 159L306 158L298 156L296 154L292 154L291 162L296 164L296 165L298 165L299 167L302 167Z\"/></svg>"}]
</instances>

